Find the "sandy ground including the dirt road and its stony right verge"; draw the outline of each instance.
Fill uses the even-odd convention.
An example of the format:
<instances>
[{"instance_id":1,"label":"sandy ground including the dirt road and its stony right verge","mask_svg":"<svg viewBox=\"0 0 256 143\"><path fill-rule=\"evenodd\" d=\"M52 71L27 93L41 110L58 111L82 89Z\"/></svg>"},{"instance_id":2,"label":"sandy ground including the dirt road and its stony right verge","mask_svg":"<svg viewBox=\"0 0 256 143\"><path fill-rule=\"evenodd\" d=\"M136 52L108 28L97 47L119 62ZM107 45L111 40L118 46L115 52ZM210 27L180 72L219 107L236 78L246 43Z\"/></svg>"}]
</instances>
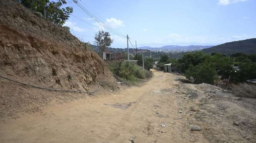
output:
<instances>
[{"instance_id":1,"label":"sandy ground including the dirt road and its stony right verge","mask_svg":"<svg viewBox=\"0 0 256 143\"><path fill-rule=\"evenodd\" d=\"M207 143L255 141L255 124L253 123L256 119L255 107L242 107L239 110L245 111L241 116L248 117L249 126L241 126L242 123L239 120L236 120L238 126L233 125L233 118L230 115L233 114L233 111L229 111L230 108L227 105L233 109L239 108L242 104L235 102L230 104L230 100L221 100L220 102L218 93L210 91L207 93L209 93L209 97L212 97L208 99L208 94L204 90L212 90L209 87L183 84L175 80L182 78L181 76L155 70L153 72L154 77L141 87L108 93L108 95L103 95L103 92L100 92L101 95L87 96L80 100L56 104L44 108L40 113L23 115L16 120L1 123L0 142ZM187 97L188 92L196 94L192 94L193 97ZM220 93L222 94L221 91ZM222 98L233 99L228 93ZM192 106L196 110L192 111ZM221 111L219 111L220 108ZM223 111L223 108L226 111ZM212 110L218 111L218 113L215 115L210 113ZM222 111L226 112L227 116L223 115ZM222 116L218 116L220 114ZM223 124L222 117L225 118ZM236 118L239 119L239 115L236 115ZM245 121L246 125L249 121ZM162 127L163 124L165 127ZM191 131L191 125L201 126L202 130Z\"/></svg>"}]
</instances>

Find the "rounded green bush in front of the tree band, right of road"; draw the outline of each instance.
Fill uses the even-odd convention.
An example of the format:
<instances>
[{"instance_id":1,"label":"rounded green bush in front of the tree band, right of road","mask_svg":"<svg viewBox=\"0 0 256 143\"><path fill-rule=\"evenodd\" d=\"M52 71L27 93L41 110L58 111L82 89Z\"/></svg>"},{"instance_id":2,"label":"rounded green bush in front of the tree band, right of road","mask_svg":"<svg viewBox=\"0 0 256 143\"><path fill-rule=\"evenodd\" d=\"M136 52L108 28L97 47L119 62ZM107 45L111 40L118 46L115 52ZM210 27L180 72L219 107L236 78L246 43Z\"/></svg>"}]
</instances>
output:
<instances>
[{"instance_id":1,"label":"rounded green bush in front of the tree band, right of road","mask_svg":"<svg viewBox=\"0 0 256 143\"><path fill-rule=\"evenodd\" d=\"M184 75L187 80L196 84L214 84L214 79L216 78L216 71L214 67L209 63L200 63L195 66L191 64Z\"/></svg>"}]
</instances>

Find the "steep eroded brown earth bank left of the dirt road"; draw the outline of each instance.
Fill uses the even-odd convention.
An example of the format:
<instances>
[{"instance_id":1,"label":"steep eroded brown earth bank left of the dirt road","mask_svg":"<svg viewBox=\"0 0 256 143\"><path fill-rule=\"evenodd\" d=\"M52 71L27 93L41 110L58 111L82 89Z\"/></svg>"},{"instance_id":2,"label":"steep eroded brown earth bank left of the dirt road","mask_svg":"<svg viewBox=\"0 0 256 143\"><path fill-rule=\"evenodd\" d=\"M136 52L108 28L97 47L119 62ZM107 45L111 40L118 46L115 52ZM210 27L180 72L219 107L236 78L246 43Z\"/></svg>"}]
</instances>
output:
<instances>
[{"instance_id":1,"label":"steep eroded brown earth bank left of the dirt road","mask_svg":"<svg viewBox=\"0 0 256 143\"><path fill-rule=\"evenodd\" d=\"M0 31L0 75L4 77L50 89L82 91L95 89L99 80L114 81L104 61L68 29L54 26L16 1L0 1ZM0 86L0 115L24 106L38 108L53 96L78 97L4 79Z\"/></svg>"}]
</instances>

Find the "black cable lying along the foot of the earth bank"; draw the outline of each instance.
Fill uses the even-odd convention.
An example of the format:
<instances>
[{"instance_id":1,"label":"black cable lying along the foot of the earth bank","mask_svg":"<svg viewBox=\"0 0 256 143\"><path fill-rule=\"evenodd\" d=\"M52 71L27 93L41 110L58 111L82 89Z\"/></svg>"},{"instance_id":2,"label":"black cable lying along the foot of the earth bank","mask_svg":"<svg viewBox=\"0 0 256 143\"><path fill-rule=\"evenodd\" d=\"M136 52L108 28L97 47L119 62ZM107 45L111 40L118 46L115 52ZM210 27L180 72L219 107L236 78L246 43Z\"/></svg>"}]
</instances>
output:
<instances>
[{"instance_id":1,"label":"black cable lying along the foot of the earth bank","mask_svg":"<svg viewBox=\"0 0 256 143\"><path fill-rule=\"evenodd\" d=\"M38 88L38 89L43 89L43 90L63 91L63 92L80 92L80 93L94 93L94 92L97 92L97 91L100 89L99 83L102 82L102 81L99 81L99 82L98 82L98 89L97 89L97 90L94 90L94 91L74 91L74 90L54 90L54 89L48 89L48 88L41 88L41 87L38 87L38 86L34 86L34 85L30 85L30 84L26 84L26 83L19 82L19 81L15 81L15 80L12 80L12 79L3 77L3 76L0 76L0 77L1 77L1 78L4 78L4 79L7 79L7 80L10 80L10 81L13 81L13 82L17 82L17 83L20 83L20 84L23 84L23 85L27 85L27 86L31 86L31 87L33 87L33 88Z\"/></svg>"}]
</instances>

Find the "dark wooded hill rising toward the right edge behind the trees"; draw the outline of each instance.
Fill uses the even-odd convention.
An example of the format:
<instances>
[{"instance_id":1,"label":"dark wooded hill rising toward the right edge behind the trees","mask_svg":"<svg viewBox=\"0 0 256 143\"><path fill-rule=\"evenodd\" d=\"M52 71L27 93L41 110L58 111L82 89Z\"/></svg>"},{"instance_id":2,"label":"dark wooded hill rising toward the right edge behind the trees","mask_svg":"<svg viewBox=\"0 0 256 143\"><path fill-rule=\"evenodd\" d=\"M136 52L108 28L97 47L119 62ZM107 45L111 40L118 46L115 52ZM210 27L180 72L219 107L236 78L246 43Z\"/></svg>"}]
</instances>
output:
<instances>
[{"instance_id":1,"label":"dark wooded hill rising toward the right edge behind the trees","mask_svg":"<svg viewBox=\"0 0 256 143\"><path fill-rule=\"evenodd\" d=\"M256 53L256 38L224 43L211 48L201 50L204 53L218 52L223 54Z\"/></svg>"}]
</instances>

